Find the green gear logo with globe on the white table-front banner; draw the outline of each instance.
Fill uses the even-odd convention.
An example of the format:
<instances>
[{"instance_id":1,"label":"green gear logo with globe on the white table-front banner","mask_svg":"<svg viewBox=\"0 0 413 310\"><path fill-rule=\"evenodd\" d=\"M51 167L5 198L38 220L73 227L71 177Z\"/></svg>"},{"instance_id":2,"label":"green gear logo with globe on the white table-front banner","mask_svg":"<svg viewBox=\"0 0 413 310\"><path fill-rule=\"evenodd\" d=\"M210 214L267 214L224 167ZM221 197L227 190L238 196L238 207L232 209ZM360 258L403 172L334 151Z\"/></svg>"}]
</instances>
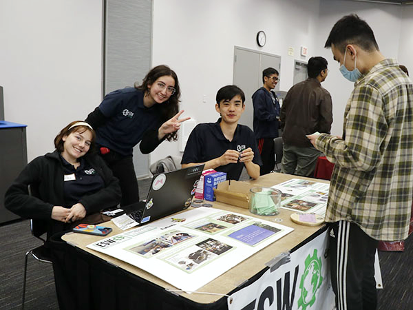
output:
<instances>
[{"instance_id":1,"label":"green gear logo with globe on the white table-front banner","mask_svg":"<svg viewBox=\"0 0 413 310\"><path fill-rule=\"evenodd\" d=\"M313 306L317 290L323 282L321 258L317 257L317 249L314 250L313 256L307 256L305 266L306 268L299 284L301 294L298 300L298 308L302 307L302 310L306 310L308 306Z\"/></svg>"}]
</instances>

